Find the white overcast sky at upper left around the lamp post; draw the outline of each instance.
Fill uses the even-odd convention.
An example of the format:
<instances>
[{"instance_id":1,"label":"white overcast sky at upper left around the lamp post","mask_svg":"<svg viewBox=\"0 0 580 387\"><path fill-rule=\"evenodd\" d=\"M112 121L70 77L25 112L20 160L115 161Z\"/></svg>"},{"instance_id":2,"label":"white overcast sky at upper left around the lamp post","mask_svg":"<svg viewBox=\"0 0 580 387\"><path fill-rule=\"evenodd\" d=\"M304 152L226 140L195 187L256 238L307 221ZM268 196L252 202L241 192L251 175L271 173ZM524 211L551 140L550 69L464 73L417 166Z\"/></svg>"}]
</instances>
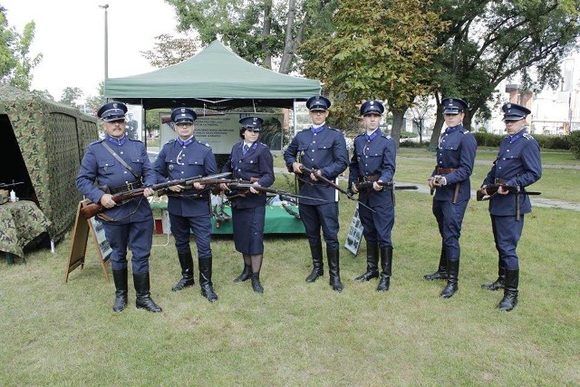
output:
<instances>
[{"instance_id":1,"label":"white overcast sky at upper left around the lamp post","mask_svg":"<svg viewBox=\"0 0 580 387\"><path fill-rule=\"evenodd\" d=\"M97 94L104 79L104 9L109 5L109 78L156 70L140 51L153 48L154 37L176 35L173 7L163 0L0 0L10 26L19 33L34 21L31 56L43 53L33 71L32 89L48 90L59 100L65 87L79 87L84 97Z\"/></svg>"}]
</instances>

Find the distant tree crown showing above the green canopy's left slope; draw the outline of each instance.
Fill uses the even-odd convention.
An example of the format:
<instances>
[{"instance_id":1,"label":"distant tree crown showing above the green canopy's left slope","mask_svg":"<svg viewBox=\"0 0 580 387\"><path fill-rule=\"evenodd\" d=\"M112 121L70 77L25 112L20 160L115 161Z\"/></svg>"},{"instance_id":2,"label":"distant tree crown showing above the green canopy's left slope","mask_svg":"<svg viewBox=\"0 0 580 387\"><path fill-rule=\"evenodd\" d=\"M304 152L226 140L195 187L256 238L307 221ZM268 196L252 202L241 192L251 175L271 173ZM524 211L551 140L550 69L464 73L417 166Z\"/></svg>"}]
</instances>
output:
<instances>
[{"instance_id":1,"label":"distant tree crown showing above the green canopy's left slope","mask_svg":"<svg viewBox=\"0 0 580 387\"><path fill-rule=\"evenodd\" d=\"M183 62L195 55L199 48L198 39L174 38L169 34L155 36L155 48L141 51L141 54L154 67L167 67Z\"/></svg>"}]
</instances>

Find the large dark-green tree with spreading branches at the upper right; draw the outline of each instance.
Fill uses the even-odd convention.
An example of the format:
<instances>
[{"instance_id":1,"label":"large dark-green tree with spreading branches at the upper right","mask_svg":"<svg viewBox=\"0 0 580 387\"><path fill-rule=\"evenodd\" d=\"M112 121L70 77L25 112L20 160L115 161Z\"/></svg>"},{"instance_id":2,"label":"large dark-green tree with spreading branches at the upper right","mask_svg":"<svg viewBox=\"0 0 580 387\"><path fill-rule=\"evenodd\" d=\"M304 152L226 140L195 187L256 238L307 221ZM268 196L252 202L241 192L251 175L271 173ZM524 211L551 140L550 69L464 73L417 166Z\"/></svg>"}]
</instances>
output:
<instances>
[{"instance_id":1,"label":"large dark-green tree with spreading branches at the upper right","mask_svg":"<svg viewBox=\"0 0 580 387\"><path fill-rule=\"evenodd\" d=\"M489 116L488 102L497 100L500 82L519 78L528 90L555 86L559 63L577 47L580 35L578 0L436 0L433 9L443 10L441 18L450 27L439 36L443 51L436 62L441 87L435 93L432 149L443 124L443 97L469 102L464 120L469 129L477 112Z\"/></svg>"}]
</instances>

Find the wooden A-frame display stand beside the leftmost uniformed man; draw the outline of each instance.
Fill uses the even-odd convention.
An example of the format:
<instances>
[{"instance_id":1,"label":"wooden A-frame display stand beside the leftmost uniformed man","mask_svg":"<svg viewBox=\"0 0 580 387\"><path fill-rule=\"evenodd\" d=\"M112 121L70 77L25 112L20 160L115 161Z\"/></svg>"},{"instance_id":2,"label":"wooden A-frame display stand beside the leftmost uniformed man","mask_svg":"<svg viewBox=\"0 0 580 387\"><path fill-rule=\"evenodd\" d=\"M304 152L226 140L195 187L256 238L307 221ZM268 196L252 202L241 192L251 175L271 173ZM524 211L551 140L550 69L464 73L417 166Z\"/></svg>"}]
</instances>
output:
<instances>
[{"instance_id":1,"label":"wooden A-frame display stand beside the leftmost uniformed man","mask_svg":"<svg viewBox=\"0 0 580 387\"><path fill-rule=\"evenodd\" d=\"M102 273L105 275L105 279L107 282L111 282L109 278L109 270L107 269L107 263L109 262L109 257L111 256L111 252L108 252L111 247L109 247L109 243L104 239L103 234L101 237L98 237L98 232L95 230L94 219L85 219L81 215L81 208L91 203L90 200L84 199L79 202L79 207L76 210L76 218L74 220L74 228L73 228L73 242L71 243L71 254L69 255L68 263L66 264L66 268L64 270L64 283L66 284L69 279L69 274L78 266L81 268L84 267L84 256L86 255L87 250L87 240L89 238L89 231L92 234L92 240L94 241L97 251L99 252L99 257ZM101 240L100 240L101 239Z\"/></svg>"}]
</instances>

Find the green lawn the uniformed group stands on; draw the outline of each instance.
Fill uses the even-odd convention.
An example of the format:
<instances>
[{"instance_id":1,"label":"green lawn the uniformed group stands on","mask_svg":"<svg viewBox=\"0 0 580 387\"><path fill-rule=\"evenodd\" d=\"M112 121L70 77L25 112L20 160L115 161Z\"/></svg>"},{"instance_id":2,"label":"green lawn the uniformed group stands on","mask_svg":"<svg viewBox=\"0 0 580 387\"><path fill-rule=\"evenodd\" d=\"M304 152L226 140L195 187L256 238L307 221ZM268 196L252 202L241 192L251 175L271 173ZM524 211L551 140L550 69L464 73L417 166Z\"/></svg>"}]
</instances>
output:
<instances>
[{"instance_id":1,"label":"green lawn the uniformed group stands on","mask_svg":"<svg viewBox=\"0 0 580 387\"><path fill-rule=\"evenodd\" d=\"M429 172L415 163L401 160L397 173L411 178L412 169L423 179ZM355 203L340 203L343 244ZM519 305L499 313L501 293L479 287L497 276L487 205L469 203L459 293L448 300L439 297L443 282L422 279L440 253L430 206L428 195L397 193L384 294L374 291L376 280L353 282L364 270L364 243L358 256L341 249L342 293L331 290L327 273L306 284L305 237L266 238L264 295L232 282L241 256L231 237L215 237L213 305L199 295L197 276L195 288L171 292L179 279L172 240L153 247L151 292L161 314L137 310L131 286L128 308L111 311L113 285L92 241L68 284L70 236L56 254L1 262L0 385L578 385L578 213L534 208L526 216Z\"/></svg>"}]
</instances>

